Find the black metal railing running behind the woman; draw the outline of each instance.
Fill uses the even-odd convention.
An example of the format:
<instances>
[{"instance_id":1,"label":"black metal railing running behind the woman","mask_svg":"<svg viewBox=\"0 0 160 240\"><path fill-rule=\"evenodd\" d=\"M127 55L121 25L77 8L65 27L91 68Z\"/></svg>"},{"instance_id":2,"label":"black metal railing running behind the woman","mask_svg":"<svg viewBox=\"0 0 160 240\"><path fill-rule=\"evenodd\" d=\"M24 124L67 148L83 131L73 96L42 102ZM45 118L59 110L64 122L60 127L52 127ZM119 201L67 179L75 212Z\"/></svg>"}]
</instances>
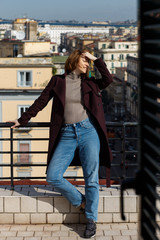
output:
<instances>
[{"instance_id":1,"label":"black metal railing running behind the woman","mask_svg":"<svg viewBox=\"0 0 160 240\"><path fill-rule=\"evenodd\" d=\"M28 163L21 163L21 162L14 162L14 155L16 155L16 158L18 159L18 155L20 154L47 154L47 151L17 151L17 149L14 149L14 142L18 141L48 141L49 138L33 138L30 135L27 137L22 137L19 135L18 137L14 137L14 131L20 131L20 132L27 132L31 131L34 128L49 128L50 123L48 122L37 122L37 123L28 123L27 126L20 127L18 130L16 128L12 129L10 128L12 126L11 123L0 123L0 141L3 142L9 142L10 150L6 151L3 150L2 144L0 145L0 154L1 154L1 160L0 160L0 168L9 167L10 168L10 176L0 176L0 180L9 180L11 182L11 188L14 188L14 181L15 180L21 180L21 179L45 179L46 177L43 176L23 176L23 177L16 177L14 176L14 168L15 167L46 167L46 163L34 163L34 162L28 162ZM135 170L138 167L137 163L137 122L107 122L107 131L108 131L108 138L109 138L109 145L112 150L113 154L113 160L111 164L111 179L113 181L118 181L119 183L121 180L130 178L134 175ZM2 130L8 129L10 131L9 137L3 137ZM10 156L10 161L4 161L3 156L7 154ZM100 168L100 179L105 178L105 171L102 168ZM83 179L83 176L66 176L65 178L68 179Z\"/></svg>"}]
</instances>

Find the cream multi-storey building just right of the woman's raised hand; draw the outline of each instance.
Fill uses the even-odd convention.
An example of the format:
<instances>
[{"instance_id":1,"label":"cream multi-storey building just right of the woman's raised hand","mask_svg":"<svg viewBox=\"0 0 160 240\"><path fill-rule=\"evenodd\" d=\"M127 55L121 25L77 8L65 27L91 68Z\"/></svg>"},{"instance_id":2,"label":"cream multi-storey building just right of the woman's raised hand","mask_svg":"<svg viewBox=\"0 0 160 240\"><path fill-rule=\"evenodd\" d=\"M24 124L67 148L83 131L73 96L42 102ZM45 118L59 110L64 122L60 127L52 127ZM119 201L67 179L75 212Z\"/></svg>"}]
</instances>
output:
<instances>
[{"instance_id":1,"label":"cream multi-storey building just right of the woman's raised hand","mask_svg":"<svg viewBox=\"0 0 160 240\"><path fill-rule=\"evenodd\" d=\"M95 43L95 55L105 61L112 74L116 67L127 67L127 57L137 57L137 51L137 41L100 40Z\"/></svg>"}]
</instances>

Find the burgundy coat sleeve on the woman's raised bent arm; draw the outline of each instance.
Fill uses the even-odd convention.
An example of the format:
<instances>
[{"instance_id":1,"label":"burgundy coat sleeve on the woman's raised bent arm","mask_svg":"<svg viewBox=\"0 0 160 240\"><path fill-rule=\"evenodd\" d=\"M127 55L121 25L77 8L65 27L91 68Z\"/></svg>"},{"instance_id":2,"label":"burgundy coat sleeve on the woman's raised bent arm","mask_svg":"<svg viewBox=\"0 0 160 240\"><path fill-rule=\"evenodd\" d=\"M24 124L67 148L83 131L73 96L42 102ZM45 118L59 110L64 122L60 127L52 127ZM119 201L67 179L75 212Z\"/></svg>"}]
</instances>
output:
<instances>
[{"instance_id":1,"label":"burgundy coat sleeve on the woman's raised bent arm","mask_svg":"<svg viewBox=\"0 0 160 240\"><path fill-rule=\"evenodd\" d=\"M100 72L102 78L95 79L95 83L98 84L99 89L106 88L110 83L113 82L113 78L110 72L107 69L105 62L101 58L97 58L94 61L95 66L97 67L98 71Z\"/></svg>"}]
</instances>

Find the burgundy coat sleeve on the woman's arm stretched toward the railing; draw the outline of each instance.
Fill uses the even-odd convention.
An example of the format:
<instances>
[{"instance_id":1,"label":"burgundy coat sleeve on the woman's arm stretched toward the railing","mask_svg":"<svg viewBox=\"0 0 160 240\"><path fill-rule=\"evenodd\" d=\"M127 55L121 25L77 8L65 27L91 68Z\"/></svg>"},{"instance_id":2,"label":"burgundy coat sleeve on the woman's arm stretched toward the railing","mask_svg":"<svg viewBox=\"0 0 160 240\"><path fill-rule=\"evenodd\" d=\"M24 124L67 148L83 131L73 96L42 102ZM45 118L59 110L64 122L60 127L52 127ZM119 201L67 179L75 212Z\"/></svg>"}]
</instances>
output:
<instances>
[{"instance_id":1,"label":"burgundy coat sleeve on the woman's arm stretched toward the railing","mask_svg":"<svg viewBox=\"0 0 160 240\"><path fill-rule=\"evenodd\" d=\"M48 85L42 91L41 95L34 101L34 103L28 108L26 112L18 119L21 125L26 125L28 121L37 115L41 111L50 99L53 97L53 87L55 85L55 77L52 77Z\"/></svg>"}]
</instances>

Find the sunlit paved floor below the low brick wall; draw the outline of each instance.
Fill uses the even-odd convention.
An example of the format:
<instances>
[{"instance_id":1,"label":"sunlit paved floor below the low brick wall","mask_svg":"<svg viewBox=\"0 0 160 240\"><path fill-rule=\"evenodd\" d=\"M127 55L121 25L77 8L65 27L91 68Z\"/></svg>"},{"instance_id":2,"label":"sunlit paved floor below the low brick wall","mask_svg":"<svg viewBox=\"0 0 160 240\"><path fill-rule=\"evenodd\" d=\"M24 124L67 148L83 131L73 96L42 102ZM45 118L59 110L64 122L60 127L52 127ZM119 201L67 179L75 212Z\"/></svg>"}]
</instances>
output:
<instances>
[{"instance_id":1,"label":"sunlit paved floor below the low brick wall","mask_svg":"<svg viewBox=\"0 0 160 240\"><path fill-rule=\"evenodd\" d=\"M80 240L84 224L0 225L0 240ZM97 224L95 240L139 240L138 224Z\"/></svg>"}]
</instances>

